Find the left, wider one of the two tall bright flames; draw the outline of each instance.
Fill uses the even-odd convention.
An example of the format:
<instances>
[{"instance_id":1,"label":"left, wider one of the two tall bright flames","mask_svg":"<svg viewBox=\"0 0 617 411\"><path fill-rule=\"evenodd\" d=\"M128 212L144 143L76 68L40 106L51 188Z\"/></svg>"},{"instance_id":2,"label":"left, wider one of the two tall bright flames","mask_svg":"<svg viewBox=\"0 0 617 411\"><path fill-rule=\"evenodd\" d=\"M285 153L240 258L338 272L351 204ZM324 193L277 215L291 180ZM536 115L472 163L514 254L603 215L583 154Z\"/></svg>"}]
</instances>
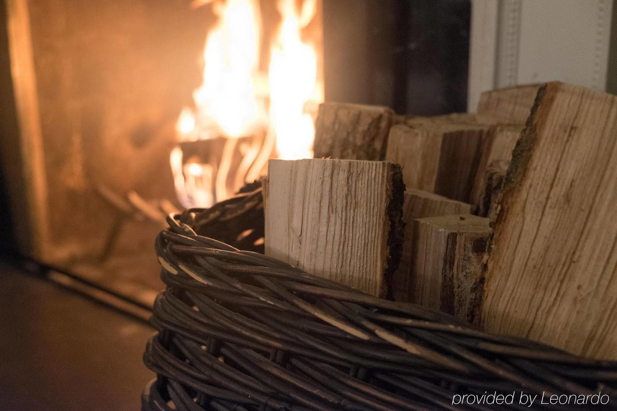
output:
<instances>
[{"instance_id":1,"label":"left, wider one of the two tall bright flames","mask_svg":"<svg viewBox=\"0 0 617 411\"><path fill-rule=\"evenodd\" d=\"M254 80L259 64L259 4L227 0L212 7L218 22L205 43L204 81L193 92L196 112L185 109L176 125L185 139L238 138L251 134L265 118ZM200 130L195 130L197 124Z\"/></svg>"}]
</instances>

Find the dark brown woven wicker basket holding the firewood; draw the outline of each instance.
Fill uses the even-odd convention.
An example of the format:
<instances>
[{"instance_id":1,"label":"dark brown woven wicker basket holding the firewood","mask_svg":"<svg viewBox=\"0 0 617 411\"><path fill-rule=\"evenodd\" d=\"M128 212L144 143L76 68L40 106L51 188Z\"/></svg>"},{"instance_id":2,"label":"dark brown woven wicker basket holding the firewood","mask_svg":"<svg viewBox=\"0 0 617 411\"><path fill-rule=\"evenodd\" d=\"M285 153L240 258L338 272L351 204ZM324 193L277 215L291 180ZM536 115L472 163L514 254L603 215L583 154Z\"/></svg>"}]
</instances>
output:
<instances>
[{"instance_id":1,"label":"dark brown woven wicker basket holding the firewood","mask_svg":"<svg viewBox=\"0 0 617 411\"><path fill-rule=\"evenodd\" d=\"M520 392L539 394L534 408L543 393L617 401L616 362L483 333L255 252L261 197L170 216L157 238L167 289L144 354L158 375L144 410L494 409L459 401L485 392L514 392L499 405L512 409L528 409Z\"/></svg>"}]
</instances>

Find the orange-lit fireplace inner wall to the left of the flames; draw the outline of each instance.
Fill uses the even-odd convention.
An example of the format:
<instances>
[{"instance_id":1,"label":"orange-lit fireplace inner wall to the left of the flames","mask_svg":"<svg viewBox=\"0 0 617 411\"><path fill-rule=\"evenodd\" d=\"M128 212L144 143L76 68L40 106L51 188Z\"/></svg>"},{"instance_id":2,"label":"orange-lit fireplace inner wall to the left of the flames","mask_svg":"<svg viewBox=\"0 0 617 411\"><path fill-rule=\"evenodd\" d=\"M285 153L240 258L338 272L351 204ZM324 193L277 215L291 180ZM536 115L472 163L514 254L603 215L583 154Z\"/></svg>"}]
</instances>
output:
<instances>
[{"instance_id":1,"label":"orange-lit fireplace inner wall to the left of the flames","mask_svg":"<svg viewBox=\"0 0 617 411\"><path fill-rule=\"evenodd\" d=\"M20 253L116 291L160 288L160 225L113 194L175 202L175 120L214 22L190 3L6 2L17 127L2 130L2 160Z\"/></svg>"}]
</instances>

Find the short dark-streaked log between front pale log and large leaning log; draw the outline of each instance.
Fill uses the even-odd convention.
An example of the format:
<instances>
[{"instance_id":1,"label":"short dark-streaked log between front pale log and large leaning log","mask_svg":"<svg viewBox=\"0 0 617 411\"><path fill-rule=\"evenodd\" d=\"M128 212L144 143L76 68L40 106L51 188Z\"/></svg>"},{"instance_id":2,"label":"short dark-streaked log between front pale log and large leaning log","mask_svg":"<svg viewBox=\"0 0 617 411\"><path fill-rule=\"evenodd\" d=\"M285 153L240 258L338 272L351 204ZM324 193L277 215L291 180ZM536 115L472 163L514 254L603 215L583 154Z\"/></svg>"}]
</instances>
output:
<instances>
[{"instance_id":1,"label":"short dark-streaked log between front pale log and large leaning log","mask_svg":"<svg viewBox=\"0 0 617 411\"><path fill-rule=\"evenodd\" d=\"M411 301L477 323L488 218L445 215L420 218L414 226Z\"/></svg>"}]
</instances>

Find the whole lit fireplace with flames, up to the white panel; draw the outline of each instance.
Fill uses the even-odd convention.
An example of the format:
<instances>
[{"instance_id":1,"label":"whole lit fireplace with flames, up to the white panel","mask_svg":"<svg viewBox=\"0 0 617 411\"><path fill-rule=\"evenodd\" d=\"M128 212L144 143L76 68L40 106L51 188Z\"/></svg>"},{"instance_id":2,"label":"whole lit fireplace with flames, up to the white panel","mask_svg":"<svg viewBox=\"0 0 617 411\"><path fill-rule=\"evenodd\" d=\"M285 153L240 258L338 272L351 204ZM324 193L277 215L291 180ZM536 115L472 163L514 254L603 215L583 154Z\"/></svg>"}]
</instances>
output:
<instances>
[{"instance_id":1,"label":"whole lit fireplace with flames, up to the white panel","mask_svg":"<svg viewBox=\"0 0 617 411\"><path fill-rule=\"evenodd\" d=\"M312 157L320 102L466 108L470 1L11 0L2 12L7 247L144 304L162 287L152 244L165 215L232 196L268 159Z\"/></svg>"}]
</instances>

